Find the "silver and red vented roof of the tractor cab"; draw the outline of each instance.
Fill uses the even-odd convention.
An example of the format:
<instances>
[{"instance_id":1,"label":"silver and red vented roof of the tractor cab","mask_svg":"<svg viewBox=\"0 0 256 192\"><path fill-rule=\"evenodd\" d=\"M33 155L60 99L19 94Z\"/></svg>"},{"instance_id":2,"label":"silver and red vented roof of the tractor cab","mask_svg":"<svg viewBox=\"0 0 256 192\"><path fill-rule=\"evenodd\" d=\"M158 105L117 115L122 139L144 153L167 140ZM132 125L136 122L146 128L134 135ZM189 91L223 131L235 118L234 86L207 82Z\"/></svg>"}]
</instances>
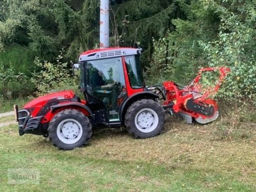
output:
<instances>
[{"instance_id":1,"label":"silver and red vented roof of the tractor cab","mask_svg":"<svg viewBox=\"0 0 256 192\"><path fill-rule=\"evenodd\" d=\"M79 56L79 62L113 58L118 56L138 55L140 53L141 53L140 48L113 47L113 48L92 49L82 53Z\"/></svg>"}]
</instances>

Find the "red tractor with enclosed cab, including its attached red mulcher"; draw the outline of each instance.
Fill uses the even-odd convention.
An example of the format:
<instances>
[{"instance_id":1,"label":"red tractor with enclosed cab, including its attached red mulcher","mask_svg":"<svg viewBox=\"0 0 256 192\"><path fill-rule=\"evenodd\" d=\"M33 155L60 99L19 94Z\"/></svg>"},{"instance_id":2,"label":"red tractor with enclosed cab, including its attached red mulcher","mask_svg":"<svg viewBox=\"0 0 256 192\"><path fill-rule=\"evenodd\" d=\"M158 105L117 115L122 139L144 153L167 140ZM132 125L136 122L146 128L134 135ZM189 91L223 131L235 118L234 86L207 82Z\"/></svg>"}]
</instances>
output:
<instances>
[{"instance_id":1,"label":"red tractor with enclosed cab, including its attached red mulcher","mask_svg":"<svg viewBox=\"0 0 256 192\"><path fill-rule=\"evenodd\" d=\"M61 91L32 100L21 110L15 105L20 136L43 135L59 149L70 150L87 144L96 127L124 126L135 138L149 138L161 132L166 112L179 113L188 123L193 119L207 123L218 117L217 103L207 99L212 92L202 93L198 82L204 70L219 70L216 92L227 68L201 70L187 87L171 81L147 87L140 52L136 48L103 48L81 54L74 72L80 75L84 100L73 91Z\"/></svg>"}]
</instances>

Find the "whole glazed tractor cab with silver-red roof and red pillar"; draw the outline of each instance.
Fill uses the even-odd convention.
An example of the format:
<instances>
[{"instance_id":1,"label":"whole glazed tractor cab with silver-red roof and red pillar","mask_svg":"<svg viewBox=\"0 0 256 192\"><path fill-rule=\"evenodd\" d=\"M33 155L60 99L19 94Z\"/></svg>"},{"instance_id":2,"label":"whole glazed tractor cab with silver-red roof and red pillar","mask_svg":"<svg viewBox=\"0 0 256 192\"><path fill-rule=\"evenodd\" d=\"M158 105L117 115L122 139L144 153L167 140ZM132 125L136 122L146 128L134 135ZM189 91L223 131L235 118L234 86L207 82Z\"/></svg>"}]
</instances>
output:
<instances>
[{"instance_id":1,"label":"whole glazed tractor cab with silver-red roof and red pillar","mask_svg":"<svg viewBox=\"0 0 256 192\"><path fill-rule=\"evenodd\" d=\"M103 122L120 123L123 102L144 91L140 53L136 48L104 48L80 55L80 90Z\"/></svg>"}]
</instances>

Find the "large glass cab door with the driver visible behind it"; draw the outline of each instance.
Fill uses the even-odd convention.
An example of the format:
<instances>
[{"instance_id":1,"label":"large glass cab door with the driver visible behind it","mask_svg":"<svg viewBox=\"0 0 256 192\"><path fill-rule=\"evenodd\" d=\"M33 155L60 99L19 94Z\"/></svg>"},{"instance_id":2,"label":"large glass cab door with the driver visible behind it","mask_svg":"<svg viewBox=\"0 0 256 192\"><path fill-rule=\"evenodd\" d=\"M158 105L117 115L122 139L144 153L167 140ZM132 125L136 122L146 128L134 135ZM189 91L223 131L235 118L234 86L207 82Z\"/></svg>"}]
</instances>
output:
<instances>
[{"instance_id":1,"label":"large glass cab door with the driver visible behind it","mask_svg":"<svg viewBox=\"0 0 256 192\"><path fill-rule=\"evenodd\" d=\"M87 61L85 68L89 104L105 108L109 122L120 121L118 111L127 97L122 57Z\"/></svg>"}]
</instances>

